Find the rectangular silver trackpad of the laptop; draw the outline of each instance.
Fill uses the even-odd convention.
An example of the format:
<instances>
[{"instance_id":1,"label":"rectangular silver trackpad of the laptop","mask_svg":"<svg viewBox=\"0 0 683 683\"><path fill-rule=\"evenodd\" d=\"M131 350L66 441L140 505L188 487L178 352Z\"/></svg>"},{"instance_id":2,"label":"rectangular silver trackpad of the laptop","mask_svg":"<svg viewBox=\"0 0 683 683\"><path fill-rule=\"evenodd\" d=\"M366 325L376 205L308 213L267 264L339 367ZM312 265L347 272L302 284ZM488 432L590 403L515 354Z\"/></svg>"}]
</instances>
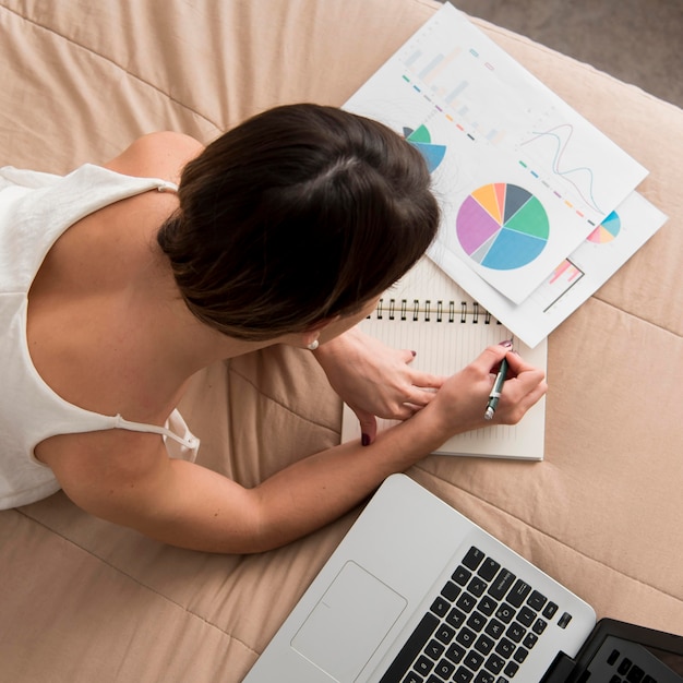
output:
<instances>
[{"instance_id":1,"label":"rectangular silver trackpad of the laptop","mask_svg":"<svg viewBox=\"0 0 683 683\"><path fill-rule=\"evenodd\" d=\"M291 640L291 647L339 683L355 681L407 601L347 562Z\"/></svg>"}]
</instances>

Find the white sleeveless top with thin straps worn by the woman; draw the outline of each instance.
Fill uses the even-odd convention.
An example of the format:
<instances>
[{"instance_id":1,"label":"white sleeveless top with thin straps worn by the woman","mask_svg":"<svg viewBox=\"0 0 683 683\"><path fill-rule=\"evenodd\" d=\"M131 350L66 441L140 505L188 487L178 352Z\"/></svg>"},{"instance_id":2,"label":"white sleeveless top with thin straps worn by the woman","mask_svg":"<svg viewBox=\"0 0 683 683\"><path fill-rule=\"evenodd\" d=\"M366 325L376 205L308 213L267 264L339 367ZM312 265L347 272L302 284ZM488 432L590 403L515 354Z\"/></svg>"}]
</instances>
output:
<instances>
[{"instance_id":1,"label":"white sleeveless top with thin straps worn by the woman","mask_svg":"<svg viewBox=\"0 0 683 683\"><path fill-rule=\"evenodd\" d=\"M52 244L74 223L120 200L173 183L85 165L61 177L0 168L0 510L60 489L34 448L57 434L127 429L164 436L170 457L194 460L199 440L178 412L165 427L129 422L61 398L40 378L26 339L28 290Z\"/></svg>"}]
</instances>

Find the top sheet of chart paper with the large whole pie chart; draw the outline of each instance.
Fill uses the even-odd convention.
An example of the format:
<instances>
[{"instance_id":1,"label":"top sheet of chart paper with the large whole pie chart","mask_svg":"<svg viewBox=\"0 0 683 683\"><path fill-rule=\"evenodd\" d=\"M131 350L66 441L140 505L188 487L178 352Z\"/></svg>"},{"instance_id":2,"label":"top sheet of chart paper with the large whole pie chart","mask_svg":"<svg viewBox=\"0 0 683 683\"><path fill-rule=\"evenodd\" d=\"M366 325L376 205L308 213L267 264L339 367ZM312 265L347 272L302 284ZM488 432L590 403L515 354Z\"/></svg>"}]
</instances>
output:
<instances>
[{"instance_id":1,"label":"top sheet of chart paper with the large whole pie chart","mask_svg":"<svg viewBox=\"0 0 683 683\"><path fill-rule=\"evenodd\" d=\"M456 281L469 271L513 303L647 175L450 4L345 108L424 156L443 214L430 256Z\"/></svg>"}]
</instances>

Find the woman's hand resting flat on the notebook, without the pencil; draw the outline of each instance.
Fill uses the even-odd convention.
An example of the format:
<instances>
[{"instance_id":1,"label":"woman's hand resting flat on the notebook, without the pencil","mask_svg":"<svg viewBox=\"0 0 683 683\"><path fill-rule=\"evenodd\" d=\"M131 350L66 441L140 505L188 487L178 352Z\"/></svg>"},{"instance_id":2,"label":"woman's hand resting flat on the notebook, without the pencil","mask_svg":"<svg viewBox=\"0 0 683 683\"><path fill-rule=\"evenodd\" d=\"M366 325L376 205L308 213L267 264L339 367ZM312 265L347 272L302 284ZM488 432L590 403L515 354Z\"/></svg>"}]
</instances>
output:
<instances>
[{"instance_id":1,"label":"woman's hand resting flat on the notebook, without the pencil","mask_svg":"<svg viewBox=\"0 0 683 683\"><path fill-rule=\"evenodd\" d=\"M374 441L376 417L408 419L432 400L445 379L414 370L414 351L393 349L357 327L322 345L315 356L358 417L363 445Z\"/></svg>"}]
</instances>

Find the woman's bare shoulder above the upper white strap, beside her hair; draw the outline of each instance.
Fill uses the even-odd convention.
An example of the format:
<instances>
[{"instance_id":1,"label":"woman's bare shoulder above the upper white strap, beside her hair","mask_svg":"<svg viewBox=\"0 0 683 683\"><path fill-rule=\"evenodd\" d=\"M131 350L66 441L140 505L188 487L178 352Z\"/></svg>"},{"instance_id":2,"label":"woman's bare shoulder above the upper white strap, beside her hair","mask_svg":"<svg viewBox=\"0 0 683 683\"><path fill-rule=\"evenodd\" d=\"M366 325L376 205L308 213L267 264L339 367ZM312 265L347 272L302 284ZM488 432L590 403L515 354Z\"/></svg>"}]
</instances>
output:
<instances>
[{"instance_id":1,"label":"woman's bare shoulder above the upper white strap, beside her hair","mask_svg":"<svg viewBox=\"0 0 683 683\"><path fill-rule=\"evenodd\" d=\"M127 176L178 182L183 166L203 149L204 145L190 135L161 131L139 137L104 166Z\"/></svg>"}]
</instances>

